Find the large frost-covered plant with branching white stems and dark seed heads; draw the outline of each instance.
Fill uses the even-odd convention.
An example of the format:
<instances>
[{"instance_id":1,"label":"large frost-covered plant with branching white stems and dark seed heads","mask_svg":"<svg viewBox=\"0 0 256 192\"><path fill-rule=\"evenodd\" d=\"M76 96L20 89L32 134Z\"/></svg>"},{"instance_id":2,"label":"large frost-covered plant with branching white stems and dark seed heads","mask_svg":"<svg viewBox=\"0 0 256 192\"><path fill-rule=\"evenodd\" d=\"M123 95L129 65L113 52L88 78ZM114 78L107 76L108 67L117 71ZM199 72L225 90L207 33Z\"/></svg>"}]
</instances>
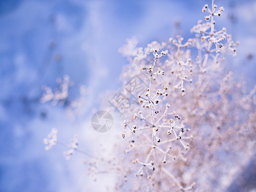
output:
<instances>
[{"instance_id":1,"label":"large frost-covered plant with branching white stems and dark seed heads","mask_svg":"<svg viewBox=\"0 0 256 192\"><path fill-rule=\"evenodd\" d=\"M187 41L177 36L142 48L131 38L120 48L130 62L120 92L132 102L122 113L128 145L117 140L116 156L105 161L119 175L116 190L221 191L234 179L230 168L255 152L256 86L241 97L244 83L225 68L238 43L215 29L223 10L205 4L209 15ZM102 159L86 163L95 172Z\"/></svg>"}]
</instances>

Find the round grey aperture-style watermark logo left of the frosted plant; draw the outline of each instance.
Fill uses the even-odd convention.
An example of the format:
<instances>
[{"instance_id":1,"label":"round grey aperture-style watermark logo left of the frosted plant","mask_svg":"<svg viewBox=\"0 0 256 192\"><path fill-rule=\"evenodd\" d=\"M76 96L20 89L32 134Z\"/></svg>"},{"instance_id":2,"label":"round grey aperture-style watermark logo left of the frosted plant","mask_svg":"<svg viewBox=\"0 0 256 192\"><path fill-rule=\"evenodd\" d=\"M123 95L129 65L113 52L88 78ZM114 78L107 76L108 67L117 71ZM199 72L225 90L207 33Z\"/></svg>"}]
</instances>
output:
<instances>
[{"instance_id":1,"label":"round grey aperture-style watermark logo left of the frosted plant","mask_svg":"<svg viewBox=\"0 0 256 192\"><path fill-rule=\"evenodd\" d=\"M113 117L108 111L97 111L92 116L92 127L98 132L107 132L113 125Z\"/></svg>"}]
</instances>

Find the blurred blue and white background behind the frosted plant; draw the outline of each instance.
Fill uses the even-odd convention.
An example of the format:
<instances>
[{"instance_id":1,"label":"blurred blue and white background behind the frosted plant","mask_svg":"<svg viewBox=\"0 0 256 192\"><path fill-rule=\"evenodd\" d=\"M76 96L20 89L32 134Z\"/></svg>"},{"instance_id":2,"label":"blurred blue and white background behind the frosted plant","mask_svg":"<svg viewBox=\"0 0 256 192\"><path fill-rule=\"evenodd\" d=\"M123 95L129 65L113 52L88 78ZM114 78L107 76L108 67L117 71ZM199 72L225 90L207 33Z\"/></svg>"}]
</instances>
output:
<instances>
[{"instance_id":1,"label":"blurred blue and white background behind the frosted plant","mask_svg":"<svg viewBox=\"0 0 256 192\"><path fill-rule=\"evenodd\" d=\"M61 147L45 152L43 138L55 127L63 142L79 134L79 147L89 153L95 140L107 143L108 134L93 131L90 120L100 95L122 86L127 61L118 48L131 36L140 46L178 34L188 39L204 19L204 4L211 1L0 0L0 191L100 191L86 176L83 156L66 161ZM250 89L256 83L256 1L216 4L225 7L217 28L225 26L240 42L228 67ZM58 88L56 79L65 75L72 86L63 105L42 104L42 86ZM85 102L70 119L66 108L79 99L81 85Z\"/></svg>"}]
</instances>

